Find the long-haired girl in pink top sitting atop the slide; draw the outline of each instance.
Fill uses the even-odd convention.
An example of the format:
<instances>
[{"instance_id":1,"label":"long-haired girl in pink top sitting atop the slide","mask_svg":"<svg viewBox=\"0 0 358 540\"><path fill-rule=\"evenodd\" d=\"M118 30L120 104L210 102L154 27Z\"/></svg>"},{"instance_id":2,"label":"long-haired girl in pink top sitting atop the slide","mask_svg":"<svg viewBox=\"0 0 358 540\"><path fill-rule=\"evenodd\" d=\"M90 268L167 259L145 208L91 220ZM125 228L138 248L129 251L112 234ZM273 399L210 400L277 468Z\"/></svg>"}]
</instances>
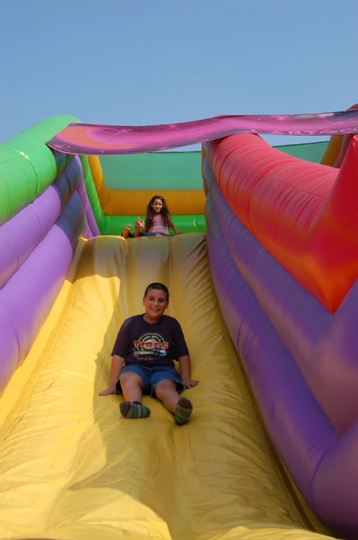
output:
<instances>
[{"instance_id":1,"label":"long-haired girl in pink top sitting atop the slide","mask_svg":"<svg viewBox=\"0 0 358 540\"><path fill-rule=\"evenodd\" d=\"M134 235L130 232L131 225L124 227L122 237L137 238L138 236L169 236L169 227L174 230L176 235L182 235L172 222L170 213L166 206L166 201L161 195L154 195L149 201L146 210L146 226L144 227L143 219L138 217L134 226Z\"/></svg>"}]
</instances>

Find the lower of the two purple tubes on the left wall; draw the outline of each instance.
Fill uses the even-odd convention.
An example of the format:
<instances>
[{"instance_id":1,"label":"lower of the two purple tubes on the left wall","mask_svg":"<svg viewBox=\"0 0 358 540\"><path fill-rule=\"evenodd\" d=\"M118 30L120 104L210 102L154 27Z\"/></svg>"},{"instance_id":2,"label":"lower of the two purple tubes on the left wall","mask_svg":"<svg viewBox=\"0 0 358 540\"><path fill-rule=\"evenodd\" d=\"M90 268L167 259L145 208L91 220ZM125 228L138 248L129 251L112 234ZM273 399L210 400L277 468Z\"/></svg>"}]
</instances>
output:
<instances>
[{"instance_id":1,"label":"lower of the two purple tubes on the left wall","mask_svg":"<svg viewBox=\"0 0 358 540\"><path fill-rule=\"evenodd\" d=\"M82 228L82 205L74 193L45 239L0 291L0 395L56 299Z\"/></svg>"}]
</instances>

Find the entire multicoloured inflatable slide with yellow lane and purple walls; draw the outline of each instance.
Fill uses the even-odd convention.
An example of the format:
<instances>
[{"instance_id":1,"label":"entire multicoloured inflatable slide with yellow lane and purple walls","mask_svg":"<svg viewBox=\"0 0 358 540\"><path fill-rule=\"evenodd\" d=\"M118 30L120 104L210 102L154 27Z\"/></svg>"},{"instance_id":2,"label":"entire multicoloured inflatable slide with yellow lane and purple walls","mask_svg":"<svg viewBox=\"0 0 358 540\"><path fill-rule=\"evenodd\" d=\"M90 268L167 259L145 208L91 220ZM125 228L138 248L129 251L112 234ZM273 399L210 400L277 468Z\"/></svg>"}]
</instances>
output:
<instances>
[{"instance_id":1,"label":"entire multicoloured inflatable slide with yellow lane and purple walls","mask_svg":"<svg viewBox=\"0 0 358 540\"><path fill-rule=\"evenodd\" d=\"M331 140L313 158L258 135L278 132ZM355 133L354 107L57 116L0 145L1 539L358 538ZM186 234L124 240L155 193ZM200 381L181 428L150 398L129 421L98 396L151 281Z\"/></svg>"}]
</instances>

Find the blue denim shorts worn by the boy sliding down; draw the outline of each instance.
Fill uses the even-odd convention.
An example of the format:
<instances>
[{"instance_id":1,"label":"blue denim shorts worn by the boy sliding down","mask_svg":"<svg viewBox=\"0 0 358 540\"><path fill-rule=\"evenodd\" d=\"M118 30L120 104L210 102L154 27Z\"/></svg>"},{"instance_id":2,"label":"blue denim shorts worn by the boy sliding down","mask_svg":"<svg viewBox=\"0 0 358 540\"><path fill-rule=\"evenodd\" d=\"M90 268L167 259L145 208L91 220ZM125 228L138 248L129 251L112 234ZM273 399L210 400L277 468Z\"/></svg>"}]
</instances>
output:
<instances>
[{"instance_id":1,"label":"blue denim shorts worn by the boy sliding down","mask_svg":"<svg viewBox=\"0 0 358 540\"><path fill-rule=\"evenodd\" d=\"M125 366L120 372L120 377L125 373L135 373L143 381L142 394L155 398L155 387L161 380L172 380L177 385L177 392L181 393L184 389L184 385L181 382L181 376L175 369L175 367L144 367L136 365ZM115 383L115 393L122 394L122 387L120 385L120 378Z\"/></svg>"}]
</instances>

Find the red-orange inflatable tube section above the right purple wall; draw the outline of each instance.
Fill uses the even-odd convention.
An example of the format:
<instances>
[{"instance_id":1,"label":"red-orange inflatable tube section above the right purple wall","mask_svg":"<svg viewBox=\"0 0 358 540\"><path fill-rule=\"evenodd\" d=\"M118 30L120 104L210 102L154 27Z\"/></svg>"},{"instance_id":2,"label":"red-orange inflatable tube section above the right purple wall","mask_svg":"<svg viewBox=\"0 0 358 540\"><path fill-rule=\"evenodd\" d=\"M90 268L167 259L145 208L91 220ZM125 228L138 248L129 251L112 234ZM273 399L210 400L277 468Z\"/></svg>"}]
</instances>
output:
<instances>
[{"instance_id":1,"label":"red-orange inflatable tube section above the right purple wall","mask_svg":"<svg viewBox=\"0 0 358 540\"><path fill-rule=\"evenodd\" d=\"M205 143L205 152L238 219L334 313L358 277L358 136L340 170L249 133Z\"/></svg>"}]
</instances>

